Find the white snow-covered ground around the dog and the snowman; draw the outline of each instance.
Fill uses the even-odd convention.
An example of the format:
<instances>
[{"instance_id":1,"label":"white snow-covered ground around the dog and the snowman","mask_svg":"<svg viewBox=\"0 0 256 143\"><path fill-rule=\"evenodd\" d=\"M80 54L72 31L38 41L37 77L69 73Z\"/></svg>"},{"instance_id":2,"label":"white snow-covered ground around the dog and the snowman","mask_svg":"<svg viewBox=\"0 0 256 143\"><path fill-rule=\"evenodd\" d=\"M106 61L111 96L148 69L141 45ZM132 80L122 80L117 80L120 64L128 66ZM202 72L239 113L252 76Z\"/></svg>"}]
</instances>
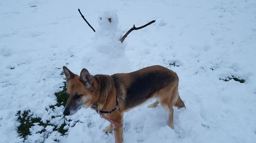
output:
<instances>
[{"instance_id":1,"label":"white snow-covered ground around the dog and the snowman","mask_svg":"<svg viewBox=\"0 0 256 143\"><path fill-rule=\"evenodd\" d=\"M90 69L81 62L95 44L94 33L78 8L96 31L97 16L106 8L116 11L123 33L156 19L125 39L129 68L162 65L179 75L186 109L175 108L175 129L167 126L161 106L145 104L125 113L124 142L256 141L256 1L1 0L0 142L23 140L18 110L42 120L52 116L46 108L56 104L62 66L77 74ZM229 80L234 77L245 82ZM113 133L102 131L109 123L95 111L80 109L68 118L78 122L69 123L65 136L49 126L44 140L37 133L41 127L34 126L26 141L114 142Z\"/></svg>"}]
</instances>

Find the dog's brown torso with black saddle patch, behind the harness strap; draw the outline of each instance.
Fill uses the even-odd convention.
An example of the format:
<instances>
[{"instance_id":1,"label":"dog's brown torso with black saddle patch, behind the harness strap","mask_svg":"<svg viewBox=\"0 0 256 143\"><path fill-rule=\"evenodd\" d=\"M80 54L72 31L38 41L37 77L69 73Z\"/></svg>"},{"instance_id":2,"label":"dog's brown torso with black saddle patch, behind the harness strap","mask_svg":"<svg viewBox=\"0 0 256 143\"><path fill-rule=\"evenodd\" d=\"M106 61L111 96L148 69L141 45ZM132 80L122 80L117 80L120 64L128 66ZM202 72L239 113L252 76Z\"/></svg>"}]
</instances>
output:
<instances>
[{"instance_id":1,"label":"dog's brown torso with black saddle patch, behind the harness strap","mask_svg":"<svg viewBox=\"0 0 256 143\"><path fill-rule=\"evenodd\" d=\"M179 81L175 72L162 66L114 74L112 77L118 89L118 97L123 102L121 108L124 110L140 105L154 96L161 98L161 95L157 95L159 91L165 88L178 88Z\"/></svg>"}]
</instances>

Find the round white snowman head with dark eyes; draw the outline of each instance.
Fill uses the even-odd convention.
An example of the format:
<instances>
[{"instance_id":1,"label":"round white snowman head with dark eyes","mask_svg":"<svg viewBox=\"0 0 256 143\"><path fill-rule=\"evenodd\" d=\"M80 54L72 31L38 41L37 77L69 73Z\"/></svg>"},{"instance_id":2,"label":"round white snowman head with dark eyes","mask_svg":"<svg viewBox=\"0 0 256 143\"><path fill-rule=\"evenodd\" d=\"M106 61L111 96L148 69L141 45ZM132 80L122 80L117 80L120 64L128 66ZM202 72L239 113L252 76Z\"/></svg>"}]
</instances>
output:
<instances>
[{"instance_id":1,"label":"round white snowman head with dark eyes","mask_svg":"<svg viewBox=\"0 0 256 143\"><path fill-rule=\"evenodd\" d=\"M118 16L113 10L105 10L101 12L98 16L98 23L100 28L108 29L117 28L118 26Z\"/></svg>"}]
</instances>

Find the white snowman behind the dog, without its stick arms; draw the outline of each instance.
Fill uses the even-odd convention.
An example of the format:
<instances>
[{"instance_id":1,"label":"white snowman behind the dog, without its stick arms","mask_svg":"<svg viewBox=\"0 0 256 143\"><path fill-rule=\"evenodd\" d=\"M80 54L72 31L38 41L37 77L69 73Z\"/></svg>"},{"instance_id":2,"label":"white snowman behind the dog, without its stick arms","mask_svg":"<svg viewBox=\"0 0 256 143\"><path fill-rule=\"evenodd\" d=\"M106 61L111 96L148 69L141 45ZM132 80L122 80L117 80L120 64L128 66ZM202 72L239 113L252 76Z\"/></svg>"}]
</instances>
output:
<instances>
[{"instance_id":1,"label":"white snowman behind the dog, without its stick arms","mask_svg":"<svg viewBox=\"0 0 256 143\"><path fill-rule=\"evenodd\" d=\"M114 74L130 71L125 56L126 43L120 41L122 31L118 28L118 16L113 10L105 10L98 16L99 27L95 32L93 46L82 58L81 67L92 74Z\"/></svg>"}]
</instances>

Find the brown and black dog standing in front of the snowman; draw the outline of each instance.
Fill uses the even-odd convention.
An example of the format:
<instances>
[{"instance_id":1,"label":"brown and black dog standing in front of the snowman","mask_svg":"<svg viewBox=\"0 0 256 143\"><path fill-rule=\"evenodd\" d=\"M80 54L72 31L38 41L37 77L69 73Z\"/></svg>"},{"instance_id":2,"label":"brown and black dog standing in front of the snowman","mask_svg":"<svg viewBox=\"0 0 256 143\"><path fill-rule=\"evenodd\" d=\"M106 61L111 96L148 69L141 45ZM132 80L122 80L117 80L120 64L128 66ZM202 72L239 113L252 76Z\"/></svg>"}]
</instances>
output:
<instances>
[{"instance_id":1,"label":"brown and black dog standing in front of the snowman","mask_svg":"<svg viewBox=\"0 0 256 143\"><path fill-rule=\"evenodd\" d=\"M123 123L123 112L128 111L151 98L157 98L148 107L156 107L159 102L169 112L168 126L174 128L173 106L185 107L178 92L179 78L177 74L162 66L151 66L131 73L113 75L91 75L87 69L82 69L80 76L63 67L68 82L69 95L63 114L74 115L81 107L88 108L97 104L97 110L112 113L103 115L117 123ZM116 105L116 99L118 105ZM116 107L117 106L117 107ZM116 131L118 142L122 142L123 129L111 124L104 131Z\"/></svg>"}]
</instances>

